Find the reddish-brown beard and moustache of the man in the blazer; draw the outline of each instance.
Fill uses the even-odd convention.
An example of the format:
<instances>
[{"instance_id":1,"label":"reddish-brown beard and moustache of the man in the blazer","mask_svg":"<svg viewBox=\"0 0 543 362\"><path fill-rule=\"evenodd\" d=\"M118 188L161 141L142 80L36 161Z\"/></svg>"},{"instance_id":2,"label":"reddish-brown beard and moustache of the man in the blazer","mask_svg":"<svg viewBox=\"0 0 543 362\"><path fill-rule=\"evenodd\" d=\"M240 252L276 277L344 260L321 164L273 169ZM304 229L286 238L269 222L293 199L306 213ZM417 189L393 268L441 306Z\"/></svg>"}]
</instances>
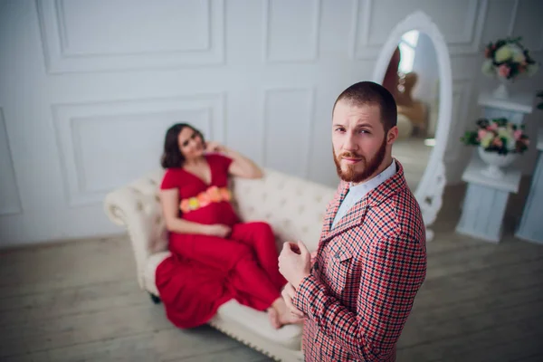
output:
<instances>
[{"instance_id":1,"label":"reddish-brown beard and moustache of the man in the blazer","mask_svg":"<svg viewBox=\"0 0 543 362\"><path fill-rule=\"evenodd\" d=\"M383 160L385 159L386 155L386 137L383 139L383 143L381 144L381 147L376 153L376 156L371 158L369 161L367 161L366 157L363 157L362 155L358 155L354 152L343 152L339 156L336 155L336 151L332 148L332 153L334 155L334 163L336 164L336 171L338 172L339 178L341 178L345 182L352 182L352 183L359 183L362 181L367 180L369 176L372 176L374 172L376 172L377 168L381 166L383 163ZM360 161L357 162L355 165L347 165L347 170L341 169L341 158L357 158ZM356 171L356 167L359 167L359 165L362 164L364 169L361 172Z\"/></svg>"}]
</instances>

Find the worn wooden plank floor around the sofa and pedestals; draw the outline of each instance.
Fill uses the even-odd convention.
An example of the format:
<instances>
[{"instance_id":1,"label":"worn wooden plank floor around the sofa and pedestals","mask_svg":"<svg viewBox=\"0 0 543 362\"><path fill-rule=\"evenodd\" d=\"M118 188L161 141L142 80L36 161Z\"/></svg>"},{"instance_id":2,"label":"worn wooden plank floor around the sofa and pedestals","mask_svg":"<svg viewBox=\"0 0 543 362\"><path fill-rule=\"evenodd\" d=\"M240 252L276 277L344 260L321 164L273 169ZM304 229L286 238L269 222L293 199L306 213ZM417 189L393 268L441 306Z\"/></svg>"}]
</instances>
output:
<instances>
[{"instance_id":1,"label":"worn wooden plank floor around the sofa and pedestals","mask_svg":"<svg viewBox=\"0 0 543 362\"><path fill-rule=\"evenodd\" d=\"M397 361L541 361L543 245L511 236L523 196L491 244L453 232L462 195L447 189ZM124 237L1 252L0 360L268 360L214 329L174 328L134 271Z\"/></svg>"}]
</instances>

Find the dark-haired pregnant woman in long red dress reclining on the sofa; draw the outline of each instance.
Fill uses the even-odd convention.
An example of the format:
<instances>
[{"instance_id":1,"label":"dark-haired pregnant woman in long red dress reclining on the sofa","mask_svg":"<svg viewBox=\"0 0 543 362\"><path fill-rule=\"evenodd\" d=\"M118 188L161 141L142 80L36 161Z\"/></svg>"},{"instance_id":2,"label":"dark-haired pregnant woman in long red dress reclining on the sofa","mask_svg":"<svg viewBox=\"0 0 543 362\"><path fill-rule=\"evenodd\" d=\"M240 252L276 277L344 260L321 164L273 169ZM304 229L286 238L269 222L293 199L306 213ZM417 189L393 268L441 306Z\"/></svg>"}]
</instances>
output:
<instances>
[{"instance_id":1,"label":"dark-haired pregnant woman in long red dress reclining on the sofa","mask_svg":"<svg viewBox=\"0 0 543 362\"><path fill-rule=\"evenodd\" d=\"M267 310L271 326L301 322L281 298L286 281L278 267L269 224L243 223L231 205L228 177L262 177L250 159L216 143L186 123L167 130L160 186L168 248L157 268L157 288L167 317L179 328L211 319L235 299Z\"/></svg>"}]
</instances>

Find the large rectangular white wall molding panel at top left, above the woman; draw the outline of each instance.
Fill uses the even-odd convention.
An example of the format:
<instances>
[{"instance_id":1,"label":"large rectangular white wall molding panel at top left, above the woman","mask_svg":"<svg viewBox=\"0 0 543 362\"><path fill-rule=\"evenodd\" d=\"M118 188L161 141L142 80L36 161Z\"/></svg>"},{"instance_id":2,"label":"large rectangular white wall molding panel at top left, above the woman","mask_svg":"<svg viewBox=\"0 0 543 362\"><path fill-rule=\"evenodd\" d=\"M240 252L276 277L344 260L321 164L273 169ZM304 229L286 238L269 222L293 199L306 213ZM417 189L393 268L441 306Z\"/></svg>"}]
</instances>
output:
<instances>
[{"instance_id":1,"label":"large rectangular white wall molding panel at top left, above the woman","mask_svg":"<svg viewBox=\"0 0 543 362\"><path fill-rule=\"evenodd\" d=\"M224 0L192 0L163 9L148 2L124 4L127 1L130 3L101 0L70 6L65 0L36 0L47 71L129 71L224 63ZM116 25L115 7L125 9L124 28ZM85 11L90 16L82 16ZM138 11L145 12L148 26L139 26L142 14ZM88 19L98 16L105 24L89 23Z\"/></svg>"}]
</instances>

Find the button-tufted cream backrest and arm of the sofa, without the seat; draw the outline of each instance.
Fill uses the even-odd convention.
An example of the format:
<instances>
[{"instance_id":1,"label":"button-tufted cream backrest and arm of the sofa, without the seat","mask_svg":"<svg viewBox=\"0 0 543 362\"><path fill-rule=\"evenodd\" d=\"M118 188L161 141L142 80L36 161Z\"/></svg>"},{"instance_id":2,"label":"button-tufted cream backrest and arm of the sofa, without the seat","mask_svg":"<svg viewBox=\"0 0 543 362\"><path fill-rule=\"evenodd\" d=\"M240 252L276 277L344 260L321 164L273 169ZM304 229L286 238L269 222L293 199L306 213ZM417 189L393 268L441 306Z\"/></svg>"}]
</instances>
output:
<instances>
[{"instance_id":1,"label":"button-tufted cream backrest and arm of the sofa, without the seat","mask_svg":"<svg viewBox=\"0 0 543 362\"><path fill-rule=\"evenodd\" d=\"M167 251L167 230L163 220L158 186L164 170L140 177L111 192L105 199L110 220L125 225L138 265L138 281L145 289L145 265L157 252ZM285 241L301 240L311 251L319 244L324 212L335 189L289 176L271 169L261 179L234 177L233 206L243 221L271 224L277 247Z\"/></svg>"}]
</instances>

